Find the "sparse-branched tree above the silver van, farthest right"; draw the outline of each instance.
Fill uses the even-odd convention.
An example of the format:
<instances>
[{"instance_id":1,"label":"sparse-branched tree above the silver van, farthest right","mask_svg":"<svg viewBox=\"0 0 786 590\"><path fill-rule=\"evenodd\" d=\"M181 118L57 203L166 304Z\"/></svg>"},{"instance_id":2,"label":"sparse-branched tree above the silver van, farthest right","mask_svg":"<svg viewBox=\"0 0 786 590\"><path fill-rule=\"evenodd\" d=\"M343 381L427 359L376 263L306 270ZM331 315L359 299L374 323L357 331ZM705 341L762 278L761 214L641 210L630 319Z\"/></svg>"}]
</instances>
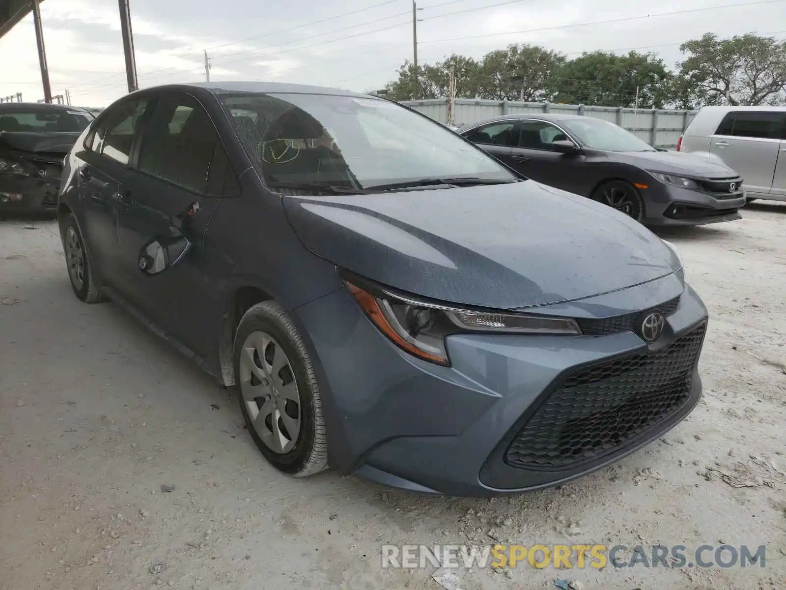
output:
<instances>
[{"instance_id":1,"label":"sparse-branched tree above the silver van, farthest right","mask_svg":"<svg viewBox=\"0 0 786 590\"><path fill-rule=\"evenodd\" d=\"M713 33L680 46L679 100L702 105L774 105L786 101L786 42L746 33L718 39Z\"/></svg>"}]
</instances>

